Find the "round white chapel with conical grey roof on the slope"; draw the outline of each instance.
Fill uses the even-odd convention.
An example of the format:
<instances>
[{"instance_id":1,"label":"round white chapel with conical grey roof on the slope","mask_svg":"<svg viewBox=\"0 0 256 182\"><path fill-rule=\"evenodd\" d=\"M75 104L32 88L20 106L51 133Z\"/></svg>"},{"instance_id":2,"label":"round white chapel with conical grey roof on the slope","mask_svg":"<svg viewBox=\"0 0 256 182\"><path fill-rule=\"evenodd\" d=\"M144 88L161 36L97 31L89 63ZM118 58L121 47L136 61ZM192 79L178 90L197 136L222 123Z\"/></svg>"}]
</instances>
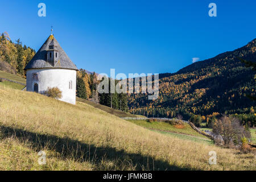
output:
<instances>
[{"instance_id":1,"label":"round white chapel with conical grey roof on the slope","mask_svg":"<svg viewBox=\"0 0 256 182\"><path fill-rule=\"evenodd\" d=\"M53 35L24 68L27 71L27 91L44 94L47 88L62 91L61 101L76 104L76 65L60 47Z\"/></svg>"}]
</instances>

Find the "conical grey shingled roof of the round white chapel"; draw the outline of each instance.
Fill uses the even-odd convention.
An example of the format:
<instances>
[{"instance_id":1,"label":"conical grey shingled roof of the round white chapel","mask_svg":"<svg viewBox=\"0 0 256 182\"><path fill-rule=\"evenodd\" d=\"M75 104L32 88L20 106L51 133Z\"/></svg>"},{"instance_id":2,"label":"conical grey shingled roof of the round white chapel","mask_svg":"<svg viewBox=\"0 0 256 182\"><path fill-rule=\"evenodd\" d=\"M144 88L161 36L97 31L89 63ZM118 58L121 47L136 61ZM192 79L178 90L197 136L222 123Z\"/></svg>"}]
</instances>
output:
<instances>
[{"instance_id":1,"label":"conical grey shingled roof of the round white chapel","mask_svg":"<svg viewBox=\"0 0 256 182\"><path fill-rule=\"evenodd\" d=\"M49 46L57 46L59 60L58 64L52 65L48 63L47 59L47 51ZM78 70L76 65L73 64L71 59L69 59L68 55L65 51L60 47L60 44L57 42L53 35L50 35L43 46L36 52L35 56L31 59L31 61L26 65L24 70L27 69L35 69L35 68L65 68L65 69L75 69Z\"/></svg>"}]
</instances>

